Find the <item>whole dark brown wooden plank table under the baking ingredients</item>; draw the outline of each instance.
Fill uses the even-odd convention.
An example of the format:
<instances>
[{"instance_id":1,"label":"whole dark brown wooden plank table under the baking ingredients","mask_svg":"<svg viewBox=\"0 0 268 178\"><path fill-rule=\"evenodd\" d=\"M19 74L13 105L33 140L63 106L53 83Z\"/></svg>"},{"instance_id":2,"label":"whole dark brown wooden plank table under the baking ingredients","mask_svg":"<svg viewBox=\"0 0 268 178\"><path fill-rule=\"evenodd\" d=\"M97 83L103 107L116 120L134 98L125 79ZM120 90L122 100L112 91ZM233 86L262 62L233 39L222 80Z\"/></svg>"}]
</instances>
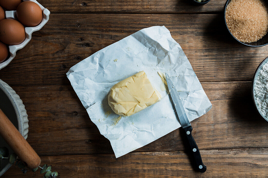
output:
<instances>
[{"instance_id":1,"label":"whole dark brown wooden plank table under the baking ingredients","mask_svg":"<svg viewBox=\"0 0 268 178\"><path fill-rule=\"evenodd\" d=\"M268 123L251 99L251 81L268 46L249 48L226 32L225 1L39 0L49 22L0 71L24 102L27 141L65 177L267 177ZM181 45L212 103L192 122L205 173L193 171L177 129L115 158L66 77L70 67L138 30L165 25ZM23 175L12 166L3 176Z\"/></svg>"}]
</instances>

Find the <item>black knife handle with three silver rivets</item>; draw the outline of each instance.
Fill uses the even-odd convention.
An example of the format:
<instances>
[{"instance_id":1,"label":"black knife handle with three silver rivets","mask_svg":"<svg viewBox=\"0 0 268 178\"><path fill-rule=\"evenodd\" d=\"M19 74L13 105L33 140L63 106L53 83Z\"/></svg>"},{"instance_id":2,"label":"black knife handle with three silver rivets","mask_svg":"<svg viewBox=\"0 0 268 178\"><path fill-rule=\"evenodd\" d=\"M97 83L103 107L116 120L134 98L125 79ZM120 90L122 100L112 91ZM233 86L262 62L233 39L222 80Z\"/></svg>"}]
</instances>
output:
<instances>
[{"instance_id":1,"label":"black knife handle with three silver rivets","mask_svg":"<svg viewBox=\"0 0 268 178\"><path fill-rule=\"evenodd\" d=\"M185 134L186 134L188 141L189 141L189 144L191 146L191 152L193 153L193 156L195 157L197 169L200 172L205 172L207 170L207 167L203 164L199 149L195 143L195 140L193 139L192 126L188 126L188 127L183 128L183 129L185 130Z\"/></svg>"}]
</instances>

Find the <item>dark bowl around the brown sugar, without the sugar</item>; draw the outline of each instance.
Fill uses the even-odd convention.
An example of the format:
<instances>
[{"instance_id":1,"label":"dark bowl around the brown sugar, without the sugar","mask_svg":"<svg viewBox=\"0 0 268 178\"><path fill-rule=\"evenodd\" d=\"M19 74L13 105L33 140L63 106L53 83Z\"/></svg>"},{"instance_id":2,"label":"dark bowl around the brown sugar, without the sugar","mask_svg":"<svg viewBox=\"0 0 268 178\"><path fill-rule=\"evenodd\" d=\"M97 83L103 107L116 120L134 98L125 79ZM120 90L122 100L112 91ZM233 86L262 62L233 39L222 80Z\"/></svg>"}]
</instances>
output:
<instances>
[{"instance_id":1,"label":"dark bowl around the brown sugar, without the sugar","mask_svg":"<svg viewBox=\"0 0 268 178\"><path fill-rule=\"evenodd\" d=\"M229 4L230 1L231 0L227 0L226 3L225 3L225 7L224 7L224 21L225 21L226 28L228 29L228 32L232 35L232 33L230 32L230 30L229 30L229 28L227 26L226 18L225 18L226 7L227 7L227 5ZM232 37L235 38L233 35L232 35ZM251 43L242 42L242 41L237 40L236 38L235 38L235 40L237 42L239 42L240 44L243 44L245 46L249 46L249 47L261 47L261 46L265 46L265 45L268 44L268 33L264 37L262 37L261 39L259 39L258 41L251 42Z\"/></svg>"}]
</instances>

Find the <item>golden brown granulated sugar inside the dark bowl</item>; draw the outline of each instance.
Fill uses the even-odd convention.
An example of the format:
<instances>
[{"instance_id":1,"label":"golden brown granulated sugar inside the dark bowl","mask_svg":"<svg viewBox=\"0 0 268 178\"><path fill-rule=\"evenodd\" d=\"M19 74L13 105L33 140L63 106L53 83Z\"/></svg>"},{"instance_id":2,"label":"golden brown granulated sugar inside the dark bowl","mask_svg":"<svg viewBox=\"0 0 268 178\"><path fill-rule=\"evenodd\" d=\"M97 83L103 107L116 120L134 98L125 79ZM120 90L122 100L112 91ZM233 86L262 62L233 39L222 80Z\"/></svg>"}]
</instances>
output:
<instances>
[{"instance_id":1,"label":"golden brown granulated sugar inside the dark bowl","mask_svg":"<svg viewBox=\"0 0 268 178\"><path fill-rule=\"evenodd\" d=\"M232 35L242 42L254 42L268 31L268 8L263 0L231 0L225 12Z\"/></svg>"}]
</instances>

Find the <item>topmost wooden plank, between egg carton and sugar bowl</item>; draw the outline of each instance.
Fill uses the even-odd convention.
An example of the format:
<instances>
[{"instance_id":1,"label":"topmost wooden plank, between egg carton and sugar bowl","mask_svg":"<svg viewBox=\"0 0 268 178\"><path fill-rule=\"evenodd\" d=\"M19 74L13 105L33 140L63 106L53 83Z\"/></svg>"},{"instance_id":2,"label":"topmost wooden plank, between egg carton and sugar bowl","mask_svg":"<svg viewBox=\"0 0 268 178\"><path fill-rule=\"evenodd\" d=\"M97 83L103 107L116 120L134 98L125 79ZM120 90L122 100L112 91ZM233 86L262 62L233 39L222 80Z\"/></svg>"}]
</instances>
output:
<instances>
[{"instance_id":1,"label":"topmost wooden plank, between egg carton and sugar bowl","mask_svg":"<svg viewBox=\"0 0 268 178\"><path fill-rule=\"evenodd\" d=\"M226 1L214 0L204 6L185 0L39 0L51 13L218 13Z\"/></svg>"}]
</instances>

